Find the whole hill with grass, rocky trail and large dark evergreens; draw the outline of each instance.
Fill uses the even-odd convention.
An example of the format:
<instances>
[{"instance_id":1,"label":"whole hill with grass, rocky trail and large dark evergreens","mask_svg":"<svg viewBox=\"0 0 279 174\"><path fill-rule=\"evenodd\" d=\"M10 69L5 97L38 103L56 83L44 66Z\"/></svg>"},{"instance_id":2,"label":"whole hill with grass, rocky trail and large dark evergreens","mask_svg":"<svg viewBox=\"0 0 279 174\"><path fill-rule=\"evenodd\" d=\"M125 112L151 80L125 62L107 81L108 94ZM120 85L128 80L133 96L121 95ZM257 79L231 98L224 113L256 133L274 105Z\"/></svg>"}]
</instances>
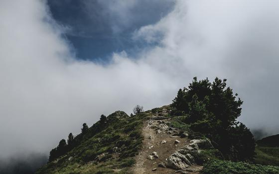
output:
<instances>
[{"instance_id":1,"label":"whole hill with grass, rocky trail and large dark evergreens","mask_svg":"<svg viewBox=\"0 0 279 174\"><path fill-rule=\"evenodd\" d=\"M279 174L279 167L255 164L254 137L236 121L236 95L225 80L194 78L170 105L83 124L36 174Z\"/></svg>"}]
</instances>

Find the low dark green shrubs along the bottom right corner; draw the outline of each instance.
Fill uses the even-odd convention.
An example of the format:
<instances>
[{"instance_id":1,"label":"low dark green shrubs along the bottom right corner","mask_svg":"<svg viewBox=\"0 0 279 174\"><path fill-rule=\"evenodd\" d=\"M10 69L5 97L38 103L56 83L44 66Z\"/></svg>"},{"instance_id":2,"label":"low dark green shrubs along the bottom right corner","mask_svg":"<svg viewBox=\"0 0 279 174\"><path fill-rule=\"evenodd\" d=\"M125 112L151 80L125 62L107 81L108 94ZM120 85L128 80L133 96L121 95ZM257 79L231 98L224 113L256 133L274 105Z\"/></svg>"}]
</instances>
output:
<instances>
[{"instance_id":1,"label":"low dark green shrubs along the bottom right corner","mask_svg":"<svg viewBox=\"0 0 279 174\"><path fill-rule=\"evenodd\" d=\"M279 167L210 160L204 165L201 174L279 174Z\"/></svg>"}]
</instances>

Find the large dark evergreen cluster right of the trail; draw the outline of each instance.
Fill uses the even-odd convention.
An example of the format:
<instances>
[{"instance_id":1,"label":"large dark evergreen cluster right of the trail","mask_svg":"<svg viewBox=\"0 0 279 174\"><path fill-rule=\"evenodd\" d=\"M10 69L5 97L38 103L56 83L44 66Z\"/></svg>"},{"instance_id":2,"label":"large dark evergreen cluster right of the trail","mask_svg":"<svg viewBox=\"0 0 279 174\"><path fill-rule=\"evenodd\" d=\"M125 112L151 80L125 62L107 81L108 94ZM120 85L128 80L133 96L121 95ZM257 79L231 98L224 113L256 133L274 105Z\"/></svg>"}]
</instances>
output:
<instances>
[{"instance_id":1,"label":"large dark evergreen cluster right of the trail","mask_svg":"<svg viewBox=\"0 0 279 174\"><path fill-rule=\"evenodd\" d=\"M250 130L237 121L243 101L226 87L226 79L198 81L195 77L188 88L179 89L173 99L172 114L184 115L184 122L193 131L211 139L225 157L231 160L251 160L255 140Z\"/></svg>"}]
</instances>

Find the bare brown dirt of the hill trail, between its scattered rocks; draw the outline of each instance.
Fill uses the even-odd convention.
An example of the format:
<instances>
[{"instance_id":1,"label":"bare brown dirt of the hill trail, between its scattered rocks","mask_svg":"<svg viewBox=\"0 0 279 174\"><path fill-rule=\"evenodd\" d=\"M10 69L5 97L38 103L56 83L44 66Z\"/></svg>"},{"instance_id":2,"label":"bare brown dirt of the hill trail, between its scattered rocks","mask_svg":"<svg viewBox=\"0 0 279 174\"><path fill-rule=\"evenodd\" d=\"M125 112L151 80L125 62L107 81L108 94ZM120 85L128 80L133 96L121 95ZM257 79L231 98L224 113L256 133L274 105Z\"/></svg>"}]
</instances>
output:
<instances>
[{"instance_id":1,"label":"bare brown dirt of the hill trail, between its scattered rocks","mask_svg":"<svg viewBox=\"0 0 279 174\"><path fill-rule=\"evenodd\" d=\"M163 121L168 120L166 119ZM132 168L133 174L172 174L175 172L175 170L173 169L160 168L158 167L158 164L161 162L165 162L165 159L172 153L174 153L175 150L188 145L189 141L187 138L171 137L173 133L167 134L167 130L163 131L163 133L156 134L156 130L152 127L159 124L159 120L153 121L150 125L148 125L148 121L144 121L144 126L142 128L142 135L144 137L143 147L142 150L139 152L139 155L136 157L136 165ZM161 144L163 140L166 141L166 143ZM175 140L180 141L180 143L175 144ZM147 159L147 157L151 155L152 152L156 152L159 158L154 158L153 160ZM152 171L152 169L154 168L157 168L156 171ZM201 168L202 167L200 166L191 166L188 169L200 171ZM184 174L199 174L199 172L187 172Z\"/></svg>"}]
</instances>

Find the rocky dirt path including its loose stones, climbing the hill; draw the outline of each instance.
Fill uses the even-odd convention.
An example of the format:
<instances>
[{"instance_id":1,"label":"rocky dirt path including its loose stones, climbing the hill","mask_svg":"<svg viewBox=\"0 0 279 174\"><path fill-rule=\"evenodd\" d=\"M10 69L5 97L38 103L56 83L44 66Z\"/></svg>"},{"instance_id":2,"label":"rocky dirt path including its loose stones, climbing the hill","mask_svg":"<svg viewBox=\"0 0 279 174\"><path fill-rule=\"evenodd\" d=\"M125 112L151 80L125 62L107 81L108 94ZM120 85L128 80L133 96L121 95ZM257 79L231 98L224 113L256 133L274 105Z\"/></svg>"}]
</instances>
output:
<instances>
[{"instance_id":1,"label":"rocky dirt path including its loose stones, climbing the hill","mask_svg":"<svg viewBox=\"0 0 279 174\"><path fill-rule=\"evenodd\" d=\"M152 120L152 119L157 120ZM167 127L165 122L167 118L156 118L150 116L148 121L144 122L142 135L144 137L143 147L136 157L136 165L132 168L134 174L199 174L202 167L193 165L187 168L187 171L173 170L169 168L158 167L160 163L165 163L166 158L178 149L188 145L187 138L173 136L178 130Z\"/></svg>"}]
</instances>

